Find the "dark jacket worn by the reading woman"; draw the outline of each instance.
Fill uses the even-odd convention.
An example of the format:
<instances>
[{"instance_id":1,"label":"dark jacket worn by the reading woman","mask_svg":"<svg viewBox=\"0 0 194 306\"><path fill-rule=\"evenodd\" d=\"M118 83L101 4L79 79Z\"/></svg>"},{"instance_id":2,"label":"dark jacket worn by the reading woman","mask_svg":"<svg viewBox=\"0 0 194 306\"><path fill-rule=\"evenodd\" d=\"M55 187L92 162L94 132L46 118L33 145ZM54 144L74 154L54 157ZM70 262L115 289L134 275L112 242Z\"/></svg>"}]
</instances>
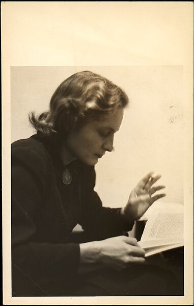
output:
<instances>
[{"instance_id":1,"label":"dark jacket worn by the reading woman","mask_svg":"<svg viewBox=\"0 0 194 306\"><path fill-rule=\"evenodd\" d=\"M12 144L13 295L21 278L36 286L43 277L68 279L77 273L79 244L70 242L77 223L93 240L121 235L133 226L122 220L121 209L102 207L93 166L70 163L73 180L64 185L57 148L37 135Z\"/></svg>"}]
</instances>

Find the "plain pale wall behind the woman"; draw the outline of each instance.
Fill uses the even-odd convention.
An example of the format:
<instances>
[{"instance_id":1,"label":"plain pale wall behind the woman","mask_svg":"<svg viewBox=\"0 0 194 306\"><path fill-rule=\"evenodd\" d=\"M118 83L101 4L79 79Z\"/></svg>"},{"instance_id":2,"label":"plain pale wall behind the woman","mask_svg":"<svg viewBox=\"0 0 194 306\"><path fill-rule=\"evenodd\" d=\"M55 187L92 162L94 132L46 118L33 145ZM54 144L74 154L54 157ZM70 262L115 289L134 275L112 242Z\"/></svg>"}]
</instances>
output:
<instances>
[{"instance_id":1,"label":"plain pale wall behind the woman","mask_svg":"<svg viewBox=\"0 0 194 306\"><path fill-rule=\"evenodd\" d=\"M129 96L115 151L96 165L103 205L124 206L149 171L161 174L165 202L183 203L183 69L181 66L11 67L12 142L33 134L27 115L47 110L57 86L81 70L102 74Z\"/></svg>"}]
</instances>

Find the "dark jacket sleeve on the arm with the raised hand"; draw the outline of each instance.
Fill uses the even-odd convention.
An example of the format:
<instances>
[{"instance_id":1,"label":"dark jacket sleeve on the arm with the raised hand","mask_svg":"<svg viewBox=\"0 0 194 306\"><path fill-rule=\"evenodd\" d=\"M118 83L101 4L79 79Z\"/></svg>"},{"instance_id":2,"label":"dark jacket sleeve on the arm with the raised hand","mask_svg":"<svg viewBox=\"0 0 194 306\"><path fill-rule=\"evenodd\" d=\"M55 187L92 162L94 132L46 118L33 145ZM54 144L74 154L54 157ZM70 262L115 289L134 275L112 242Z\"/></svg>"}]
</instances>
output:
<instances>
[{"instance_id":1,"label":"dark jacket sleeve on the arm with the raised hand","mask_svg":"<svg viewBox=\"0 0 194 306\"><path fill-rule=\"evenodd\" d=\"M85 201L82 205L81 226L93 239L104 239L126 235L132 230L133 221L125 221L121 216L121 208L103 207L95 192L96 173L89 167L86 179Z\"/></svg>"}]
</instances>

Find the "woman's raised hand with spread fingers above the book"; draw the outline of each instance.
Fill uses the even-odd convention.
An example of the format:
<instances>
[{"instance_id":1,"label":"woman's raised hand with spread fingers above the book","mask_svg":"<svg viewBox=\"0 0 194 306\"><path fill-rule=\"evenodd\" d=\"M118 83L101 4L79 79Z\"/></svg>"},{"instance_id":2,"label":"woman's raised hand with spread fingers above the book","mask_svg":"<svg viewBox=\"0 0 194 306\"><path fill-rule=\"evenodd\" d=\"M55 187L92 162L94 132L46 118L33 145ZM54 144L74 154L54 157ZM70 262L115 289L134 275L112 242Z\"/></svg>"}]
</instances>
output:
<instances>
[{"instance_id":1,"label":"woman's raised hand with spread fingers above the book","mask_svg":"<svg viewBox=\"0 0 194 306\"><path fill-rule=\"evenodd\" d=\"M130 220L137 220L147 211L154 201L165 196L165 193L152 196L156 191L165 188L163 185L153 186L161 175L152 176L148 173L132 190L127 205L122 209L121 214Z\"/></svg>"}]
</instances>

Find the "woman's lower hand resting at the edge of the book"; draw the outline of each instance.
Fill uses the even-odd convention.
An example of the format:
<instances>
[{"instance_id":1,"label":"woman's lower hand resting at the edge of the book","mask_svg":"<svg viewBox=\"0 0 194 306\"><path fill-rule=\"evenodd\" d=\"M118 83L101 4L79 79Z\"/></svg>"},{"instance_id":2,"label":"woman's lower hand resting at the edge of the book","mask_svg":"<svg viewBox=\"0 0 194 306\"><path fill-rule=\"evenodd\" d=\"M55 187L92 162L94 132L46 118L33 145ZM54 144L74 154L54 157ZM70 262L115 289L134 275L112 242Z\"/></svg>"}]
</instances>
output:
<instances>
[{"instance_id":1,"label":"woman's lower hand resting at the edge of the book","mask_svg":"<svg viewBox=\"0 0 194 306\"><path fill-rule=\"evenodd\" d=\"M80 265L97 264L122 270L132 263L145 262L145 250L135 238L118 236L80 244Z\"/></svg>"}]
</instances>

